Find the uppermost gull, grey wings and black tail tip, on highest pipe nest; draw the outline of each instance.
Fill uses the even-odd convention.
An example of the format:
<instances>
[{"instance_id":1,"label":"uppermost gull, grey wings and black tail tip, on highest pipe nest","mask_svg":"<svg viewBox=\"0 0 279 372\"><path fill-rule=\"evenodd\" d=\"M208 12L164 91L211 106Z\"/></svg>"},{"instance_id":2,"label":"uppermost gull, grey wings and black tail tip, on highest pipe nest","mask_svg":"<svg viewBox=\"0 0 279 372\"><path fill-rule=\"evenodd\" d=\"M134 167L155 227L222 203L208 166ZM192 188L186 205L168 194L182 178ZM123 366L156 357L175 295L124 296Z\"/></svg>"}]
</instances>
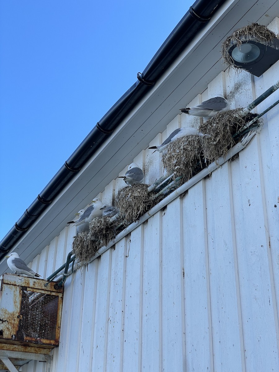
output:
<instances>
[{"instance_id":1,"label":"uppermost gull, grey wings and black tail tip, on highest pipe nest","mask_svg":"<svg viewBox=\"0 0 279 372\"><path fill-rule=\"evenodd\" d=\"M202 102L200 105L195 107L186 107L181 109L182 112L193 116L202 116L203 119L207 120L213 118L218 112L224 112L230 110L230 103L219 94L217 97L208 99Z\"/></svg>"}]
</instances>

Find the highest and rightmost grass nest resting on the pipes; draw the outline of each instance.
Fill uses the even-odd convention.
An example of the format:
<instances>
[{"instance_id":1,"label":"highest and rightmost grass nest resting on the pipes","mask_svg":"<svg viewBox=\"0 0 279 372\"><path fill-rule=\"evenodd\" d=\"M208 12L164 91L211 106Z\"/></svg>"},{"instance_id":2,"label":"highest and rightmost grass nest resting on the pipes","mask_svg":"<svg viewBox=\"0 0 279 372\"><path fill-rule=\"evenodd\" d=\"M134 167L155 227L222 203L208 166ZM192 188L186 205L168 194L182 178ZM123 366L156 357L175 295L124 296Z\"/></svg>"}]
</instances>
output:
<instances>
[{"instance_id":1,"label":"highest and rightmost grass nest resting on the pipes","mask_svg":"<svg viewBox=\"0 0 279 372\"><path fill-rule=\"evenodd\" d=\"M206 163L216 161L218 164L218 158L223 157L238 142L239 137L233 138L233 135L257 116L256 113L248 113L241 118L240 110L218 113L200 126L199 130L203 134L208 134L208 136L201 137Z\"/></svg>"}]
</instances>

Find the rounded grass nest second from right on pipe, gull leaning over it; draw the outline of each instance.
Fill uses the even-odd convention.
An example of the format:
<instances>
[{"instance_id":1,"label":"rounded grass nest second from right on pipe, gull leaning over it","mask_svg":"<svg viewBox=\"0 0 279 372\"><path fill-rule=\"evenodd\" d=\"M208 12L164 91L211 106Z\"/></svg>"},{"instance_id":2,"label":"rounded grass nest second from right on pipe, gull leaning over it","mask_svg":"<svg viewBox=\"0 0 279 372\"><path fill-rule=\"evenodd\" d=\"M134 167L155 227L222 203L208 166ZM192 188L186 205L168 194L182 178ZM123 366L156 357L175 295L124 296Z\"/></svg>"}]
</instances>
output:
<instances>
[{"instance_id":1,"label":"rounded grass nest second from right on pipe, gull leaning over it","mask_svg":"<svg viewBox=\"0 0 279 372\"><path fill-rule=\"evenodd\" d=\"M199 136L190 135L172 141L163 153L162 163L173 179L182 177L181 183L187 182L201 170L202 145Z\"/></svg>"}]
</instances>

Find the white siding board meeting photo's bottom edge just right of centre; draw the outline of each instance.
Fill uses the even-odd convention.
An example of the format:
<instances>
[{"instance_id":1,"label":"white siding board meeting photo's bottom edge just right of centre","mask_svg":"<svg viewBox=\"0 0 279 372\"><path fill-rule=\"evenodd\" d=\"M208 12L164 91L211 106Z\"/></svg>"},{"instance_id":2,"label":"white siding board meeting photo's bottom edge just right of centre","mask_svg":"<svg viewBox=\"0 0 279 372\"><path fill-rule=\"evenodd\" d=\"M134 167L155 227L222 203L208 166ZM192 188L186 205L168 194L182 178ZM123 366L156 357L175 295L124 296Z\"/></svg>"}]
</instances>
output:
<instances>
[{"instance_id":1,"label":"white siding board meeting photo's bottom edge just right of centre","mask_svg":"<svg viewBox=\"0 0 279 372\"><path fill-rule=\"evenodd\" d=\"M161 212L144 225L142 278L142 349L141 370L159 372L160 369L160 273Z\"/></svg>"}]
</instances>

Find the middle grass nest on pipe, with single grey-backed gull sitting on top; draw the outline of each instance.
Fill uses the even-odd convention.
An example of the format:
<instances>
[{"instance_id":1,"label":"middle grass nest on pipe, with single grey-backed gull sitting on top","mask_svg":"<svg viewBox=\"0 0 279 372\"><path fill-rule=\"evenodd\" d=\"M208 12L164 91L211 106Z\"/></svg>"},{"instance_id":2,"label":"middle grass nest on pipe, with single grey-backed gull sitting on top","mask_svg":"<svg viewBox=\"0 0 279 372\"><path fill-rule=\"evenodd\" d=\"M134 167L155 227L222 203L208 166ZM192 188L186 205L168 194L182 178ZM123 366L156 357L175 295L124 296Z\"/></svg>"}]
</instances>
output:
<instances>
[{"instance_id":1,"label":"middle grass nest on pipe, with single grey-backed gull sitting on top","mask_svg":"<svg viewBox=\"0 0 279 372\"><path fill-rule=\"evenodd\" d=\"M119 208L119 218L122 219L124 225L138 221L156 204L154 192L147 192L148 187L149 185L144 183L136 183L118 191L115 201Z\"/></svg>"}]
</instances>

